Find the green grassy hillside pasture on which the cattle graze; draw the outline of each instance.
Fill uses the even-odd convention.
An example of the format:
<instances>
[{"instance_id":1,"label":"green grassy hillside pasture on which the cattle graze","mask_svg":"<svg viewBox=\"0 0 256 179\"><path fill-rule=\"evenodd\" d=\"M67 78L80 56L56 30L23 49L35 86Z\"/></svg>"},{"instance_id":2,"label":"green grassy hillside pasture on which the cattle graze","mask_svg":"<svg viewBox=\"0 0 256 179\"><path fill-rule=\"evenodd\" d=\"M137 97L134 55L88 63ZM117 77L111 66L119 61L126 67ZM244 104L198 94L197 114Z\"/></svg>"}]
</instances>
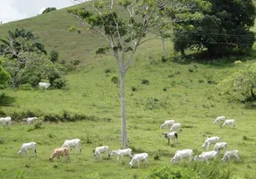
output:
<instances>
[{"instance_id":1,"label":"green grassy hillside pasture on which the cattle graze","mask_svg":"<svg viewBox=\"0 0 256 179\"><path fill-rule=\"evenodd\" d=\"M6 115L33 112L44 115L86 115L87 120L78 122L49 123L41 126L15 123L0 127L0 178L145 178L160 166L183 167L169 163L177 149L193 149L200 154L206 137L219 136L226 141L228 149L238 149L240 161L222 163L221 155L210 165L228 167L233 178L245 175L256 177L255 167L255 109L245 104L229 102L220 94L217 84L233 72L255 62L253 56L230 57L221 61L203 64L161 63L161 43L150 41L140 47L126 76L126 113L129 144L133 153L149 153L149 167L130 168L130 158L115 158L96 161L93 149L108 145L120 149L120 102L119 88L111 81L118 75L115 61L110 55L95 55L104 44L102 38L92 31L81 35L68 32L70 25L77 23L72 16L59 10L38 15L23 21L0 26L1 36L7 30L25 28L32 30L48 50L57 50L60 58L81 60L83 67L67 75L68 90L1 90L1 110ZM169 55L172 45L167 44ZM235 60L244 63L235 65ZM143 84L142 81L149 81ZM220 128L213 125L218 115L236 120L236 128ZM159 129L166 119L175 119L183 124L179 143L166 144ZM81 138L82 153L72 150L71 163L50 163L53 149L61 147L65 139ZM38 157L18 156L21 143L36 141ZM210 147L210 149L213 146ZM153 156L158 155L159 160Z\"/></svg>"}]
</instances>

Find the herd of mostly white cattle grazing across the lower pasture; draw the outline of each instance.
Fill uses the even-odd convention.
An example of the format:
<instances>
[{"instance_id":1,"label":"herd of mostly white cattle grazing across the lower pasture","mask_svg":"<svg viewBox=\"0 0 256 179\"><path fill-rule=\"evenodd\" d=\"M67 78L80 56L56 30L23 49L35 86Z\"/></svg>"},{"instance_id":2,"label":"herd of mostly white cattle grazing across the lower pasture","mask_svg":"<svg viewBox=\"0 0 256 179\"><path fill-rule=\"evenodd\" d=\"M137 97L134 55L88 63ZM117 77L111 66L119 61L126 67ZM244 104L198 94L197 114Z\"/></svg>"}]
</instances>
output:
<instances>
[{"instance_id":1,"label":"herd of mostly white cattle grazing across the lower pasture","mask_svg":"<svg viewBox=\"0 0 256 179\"><path fill-rule=\"evenodd\" d=\"M28 117L28 118L22 119L22 121L24 121L27 124L32 124L37 120L38 120L38 117ZM222 127L224 127L225 125L232 125L233 128L235 128L235 120L234 119L226 119L225 116L218 116L213 124L218 124L221 121L223 122ZM10 117L10 116L1 117L0 124L2 124L2 125L13 124L12 117ZM168 143L170 143L171 139L178 142L178 133L175 131L179 130L181 132L182 124L175 123L175 120L166 120L164 124L160 125L160 129L165 128L165 127L169 128L169 132L163 133L165 135L165 138L168 140ZM235 150L226 150L227 143L225 141L220 141L219 137L214 136L214 137L207 138L206 141L204 141L204 143L202 144L202 148L209 149L209 146L211 144L215 144L215 146L212 150L202 152L200 155L195 156L193 158L193 160L208 162L208 160L210 158L217 157L218 154L220 153L221 149L225 150L225 154L222 158L222 161L226 161L227 159L230 160L231 157L235 157L235 158L239 159L238 150L236 150L236 149ZM53 161L54 158L57 158L58 160L60 160L60 157L65 157L65 158L67 158L67 160L70 160L69 151L72 148L76 148L76 150L79 153L81 153L81 140L80 139L65 140L64 144L61 148L53 150L53 153L52 153L51 157L49 158L49 160ZM37 156L36 142L31 141L29 143L22 143L21 149L18 152L18 154L25 153L27 155L27 150L33 150L35 152L35 155ZM117 150L112 150L112 152L109 153L108 146L100 146L95 149L94 157L96 159L101 160L101 153L106 153L108 158L110 157L110 155L115 155L117 157L116 162L118 162L120 157L129 156L130 158L132 158L129 163L129 165L131 167L137 163L138 167L140 168L140 161L142 161L145 166L148 165L148 158L149 158L148 153L139 153L139 154L132 155L132 149L117 149ZM189 160L191 161L192 154L193 154L192 149L177 150L175 152L175 156L173 158L171 158L170 162L171 163L178 162L178 161L181 161L183 158L189 158Z\"/></svg>"}]
</instances>

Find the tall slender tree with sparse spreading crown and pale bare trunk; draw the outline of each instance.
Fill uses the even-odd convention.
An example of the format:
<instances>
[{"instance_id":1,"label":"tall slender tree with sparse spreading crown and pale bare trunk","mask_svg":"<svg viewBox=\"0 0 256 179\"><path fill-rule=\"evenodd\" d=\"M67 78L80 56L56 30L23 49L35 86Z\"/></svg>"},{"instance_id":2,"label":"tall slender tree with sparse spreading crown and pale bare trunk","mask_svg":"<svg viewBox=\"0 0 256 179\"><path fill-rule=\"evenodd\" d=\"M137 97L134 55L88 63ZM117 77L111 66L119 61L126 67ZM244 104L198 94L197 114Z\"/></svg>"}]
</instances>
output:
<instances>
[{"instance_id":1,"label":"tall slender tree with sparse spreading crown and pale bare trunk","mask_svg":"<svg viewBox=\"0 0 256 179\"><path fill-rule=\"evenodd\" d=\"M177 4L179 1L162 0L166 7ZM119 70L120 101L121 101L121 126L122 146L128 146L126 133L124 77L133 55L138 47L145 41L155 38L159 24L163 21L158 1L155 0L101 0L86 1L75 0L78 6L68 10L75 15L83 25L91 30L96 30L107 41L107 48L115 56Z\"/></svg>"}]
</instances>

